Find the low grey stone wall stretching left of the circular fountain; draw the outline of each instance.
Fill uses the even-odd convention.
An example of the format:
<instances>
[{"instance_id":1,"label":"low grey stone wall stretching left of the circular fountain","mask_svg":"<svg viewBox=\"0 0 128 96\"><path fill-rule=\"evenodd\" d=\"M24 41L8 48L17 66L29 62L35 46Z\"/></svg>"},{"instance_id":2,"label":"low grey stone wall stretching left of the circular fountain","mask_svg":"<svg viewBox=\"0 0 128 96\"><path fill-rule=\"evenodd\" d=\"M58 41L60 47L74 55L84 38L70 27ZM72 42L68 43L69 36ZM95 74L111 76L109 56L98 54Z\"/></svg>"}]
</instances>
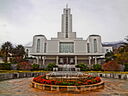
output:
<instances>
[{"instance_id":1,"label":"low grey stone wall stretching left of the circular fountain","mask_svg":"<svg viewBox=\"0 0 128 96\"><path fill-rule=\"evenodd\" d=\"M47 72L17 72L17 73L0 73L0 81L16 78L34 77L46 74Z\"/></svg>"}]
</instances>

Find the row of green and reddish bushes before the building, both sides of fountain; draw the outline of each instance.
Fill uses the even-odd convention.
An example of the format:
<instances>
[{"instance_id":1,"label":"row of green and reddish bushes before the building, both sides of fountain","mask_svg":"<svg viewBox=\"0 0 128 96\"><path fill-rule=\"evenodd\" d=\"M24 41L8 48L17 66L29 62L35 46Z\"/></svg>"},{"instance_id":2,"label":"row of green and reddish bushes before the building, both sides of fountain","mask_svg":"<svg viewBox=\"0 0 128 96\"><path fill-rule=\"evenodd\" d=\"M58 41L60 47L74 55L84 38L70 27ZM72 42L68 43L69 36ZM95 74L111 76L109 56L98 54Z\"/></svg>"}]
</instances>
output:
<instances>
[{"instance_id":1,"label":"row of green and reddish bushes before the building, both sides of fountain","mask_svg":"<svg viewBox=\"0 0 128 96\"><path fill-rule=\"evenodd\" d=\"M0 70L11 70L15 65L15 70L41 70L38 64L31 64L29 62L20 62L18 64L10 64L10 63L0 63ZM53 68L57 67L55 63L49 63L42 70L52 71ZM115 61L109 61L105 64L94 64L89 67L88 65L81 63L76 65L76 68L80 68L80 71L128 71L128 63L121 65L117 64Z\"/></svg>"}]
</instances>

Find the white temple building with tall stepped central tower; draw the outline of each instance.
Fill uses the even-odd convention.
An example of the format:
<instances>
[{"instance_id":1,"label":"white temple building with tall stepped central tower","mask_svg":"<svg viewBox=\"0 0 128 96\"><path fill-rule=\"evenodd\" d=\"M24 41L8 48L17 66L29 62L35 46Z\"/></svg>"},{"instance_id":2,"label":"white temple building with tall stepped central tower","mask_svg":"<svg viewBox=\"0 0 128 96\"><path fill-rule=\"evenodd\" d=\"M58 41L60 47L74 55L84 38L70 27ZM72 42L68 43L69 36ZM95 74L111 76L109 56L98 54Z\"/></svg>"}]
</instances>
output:
<instances>
[{"instance_id":1,"label":"white temple building with tall stepped central tower","mask_svg":"<svg viewBox=\"0 0 128 96\"><path fill-rule=\"evenodd\" d=\"M63 9L61 32L57 38L47 40L44 35L35 35L32 46L26 47L28 56L36 58L40 68L49 63L58 66L64 64L74 67L76 64L84 63L88 66L100 64L105 53L112 50L112 47L103 47L101 36L89 35L86 40L77 38L76 32L72 32L71 9Z\"/></svg>"}]
</instances>

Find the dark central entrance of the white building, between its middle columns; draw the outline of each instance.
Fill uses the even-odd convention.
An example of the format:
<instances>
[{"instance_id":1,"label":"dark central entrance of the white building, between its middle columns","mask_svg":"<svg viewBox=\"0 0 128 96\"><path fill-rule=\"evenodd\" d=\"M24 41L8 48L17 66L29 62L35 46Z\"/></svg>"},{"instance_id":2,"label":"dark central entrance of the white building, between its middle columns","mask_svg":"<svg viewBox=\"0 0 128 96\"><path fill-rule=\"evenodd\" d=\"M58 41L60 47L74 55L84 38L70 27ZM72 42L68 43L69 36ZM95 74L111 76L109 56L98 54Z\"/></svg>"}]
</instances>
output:
<instances>
[{"instance_id":1,"label":"dark central entrance of the white building, between its middle columns","mask_svg":"<svg viewBox=\"0 0 128 96\"><path fill-rule=\"evenodd\" d=\"M75 64L74 56L59 57L59 64Z\"/></svg>"}]
</instances>

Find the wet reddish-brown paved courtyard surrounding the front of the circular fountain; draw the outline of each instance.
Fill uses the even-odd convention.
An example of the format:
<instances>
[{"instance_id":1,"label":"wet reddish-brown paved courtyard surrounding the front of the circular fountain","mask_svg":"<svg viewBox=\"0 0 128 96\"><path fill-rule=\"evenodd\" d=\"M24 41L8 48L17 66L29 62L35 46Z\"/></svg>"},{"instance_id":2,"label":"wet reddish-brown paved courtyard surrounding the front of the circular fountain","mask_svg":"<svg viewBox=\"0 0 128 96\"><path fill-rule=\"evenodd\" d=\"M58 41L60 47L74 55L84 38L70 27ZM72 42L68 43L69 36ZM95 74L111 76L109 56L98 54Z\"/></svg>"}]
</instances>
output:
<instances>
[{"instance_id":1,"label":"wet reddish-brown paved courtyard surrounding the front of the circular fountain","mask_svg":"<svg viewBox=\"0 0 128 96\"><path fill-rule=\"evenodd\" d=\"M104 89L85 93L49 92L32 88L32 78L13 79L0 82L0 96L128 96L128 80L107 79Z\"/></svg>"}]
</instances>

